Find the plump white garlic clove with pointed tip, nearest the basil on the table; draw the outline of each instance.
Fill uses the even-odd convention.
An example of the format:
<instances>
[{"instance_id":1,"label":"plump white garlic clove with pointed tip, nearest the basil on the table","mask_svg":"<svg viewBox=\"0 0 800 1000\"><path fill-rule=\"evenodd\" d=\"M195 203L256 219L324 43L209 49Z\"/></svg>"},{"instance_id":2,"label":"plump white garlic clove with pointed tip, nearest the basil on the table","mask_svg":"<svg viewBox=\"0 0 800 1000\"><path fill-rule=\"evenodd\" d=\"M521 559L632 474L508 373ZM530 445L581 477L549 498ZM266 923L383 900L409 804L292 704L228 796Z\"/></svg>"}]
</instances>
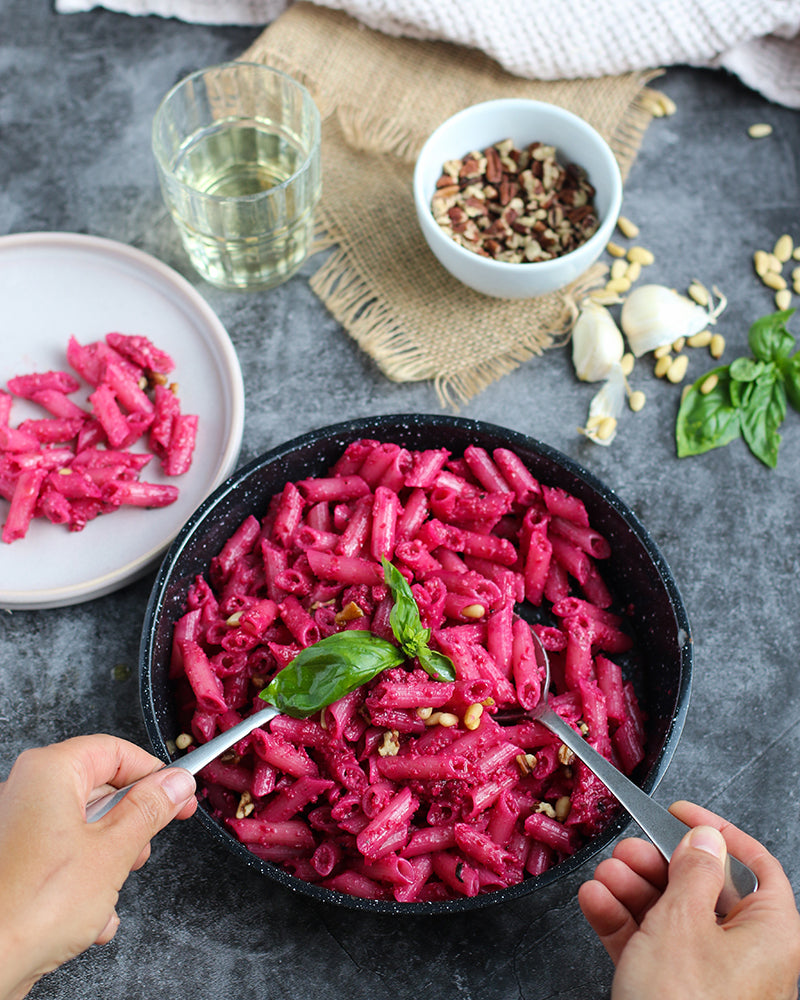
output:
<instances>
[{"instance_id":1,"label":"plump white garlic clove with pointed tip, nearest the basil on the table","mask_svg":"<svg viewBox=\"0 0 800 1000\"><path fill-rule=\"evenodd\" d=\"M704 309L664 285L640 285L625 299L620 322L631 351L637 358L680 337L692 337L715 323L727 305L717 289L719 302Z\"/></svg>"}]
</instances>

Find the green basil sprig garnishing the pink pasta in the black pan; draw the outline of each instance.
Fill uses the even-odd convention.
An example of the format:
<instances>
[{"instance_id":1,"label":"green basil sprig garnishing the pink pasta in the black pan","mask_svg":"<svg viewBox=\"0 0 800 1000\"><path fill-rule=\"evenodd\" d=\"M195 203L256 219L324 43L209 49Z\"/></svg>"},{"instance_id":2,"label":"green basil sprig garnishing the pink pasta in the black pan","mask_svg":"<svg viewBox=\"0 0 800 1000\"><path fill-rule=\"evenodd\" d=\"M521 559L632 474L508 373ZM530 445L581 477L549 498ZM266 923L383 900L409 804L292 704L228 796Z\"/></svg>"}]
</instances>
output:
<instances>
[{"instance_id":1,"label":"green basil sprig garnishing the pink pasta in the black pan","mask_svg":"<svg viewBox=\"0 0 800 1000\"><path fill-rule=\"evenodd\" d=\"M430 629L422 627L419 608L403 575L386 559L383 572L392 592L392 632L399 648L364 629L348 629L301 649L261 691L260 697L284 715L303 719L411 657L436 680L455 680L451 660L428 647Z\"/></svg>"}]
</instances>

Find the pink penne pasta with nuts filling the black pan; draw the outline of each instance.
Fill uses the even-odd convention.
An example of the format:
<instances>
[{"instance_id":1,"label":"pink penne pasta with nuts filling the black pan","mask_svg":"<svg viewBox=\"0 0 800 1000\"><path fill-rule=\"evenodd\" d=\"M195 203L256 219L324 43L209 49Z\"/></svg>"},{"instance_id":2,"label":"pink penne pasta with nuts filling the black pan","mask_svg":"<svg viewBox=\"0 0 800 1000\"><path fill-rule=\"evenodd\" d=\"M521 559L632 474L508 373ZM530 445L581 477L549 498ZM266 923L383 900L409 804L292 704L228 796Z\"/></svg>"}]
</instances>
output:
<instances>
[{"instance_id":1,"label":"pink penne pasta with nuts filling the black pan","mask_svg":"<svg viewBox=\"0 0 800 1000\"><path fill-rule=\"evenodd\" d=\"M211 813L300 879L373 899L448 900L538 875L602 830L605 787L536 722L549 651L556 711L621 770L644 756L644 717L615 657L632 645L582 502L507 449L350 444L327 474L289 483L198 576L171 673L183 734L202 743L263 705L300 649L344 629L392 638L380 557L406 577L431 648L456 679L413 662L316 716L279 716L201 774Z\"/></svg>"}]
</instances>

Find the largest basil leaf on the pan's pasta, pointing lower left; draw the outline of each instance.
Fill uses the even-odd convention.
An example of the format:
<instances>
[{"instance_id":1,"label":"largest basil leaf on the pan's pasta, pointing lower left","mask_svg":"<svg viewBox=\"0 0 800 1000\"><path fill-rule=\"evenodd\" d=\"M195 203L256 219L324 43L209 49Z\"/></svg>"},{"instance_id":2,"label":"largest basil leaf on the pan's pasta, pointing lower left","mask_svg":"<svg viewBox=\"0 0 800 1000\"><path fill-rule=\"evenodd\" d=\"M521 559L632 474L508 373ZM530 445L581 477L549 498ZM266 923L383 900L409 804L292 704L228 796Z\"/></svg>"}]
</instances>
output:
<instances>
[{"instance_id":1,"label":"largest basil leaf on the pan's pasta, pointing lower left","mask_svg":"<svg viewBox=\"0 0 800 1000\"><path fill-rule=\"evenodd\" d=\"M285 715L303 719L405 659L397 646L371 632L336 632L301 649L260 697Z\"/></svg>"}]
</instances>

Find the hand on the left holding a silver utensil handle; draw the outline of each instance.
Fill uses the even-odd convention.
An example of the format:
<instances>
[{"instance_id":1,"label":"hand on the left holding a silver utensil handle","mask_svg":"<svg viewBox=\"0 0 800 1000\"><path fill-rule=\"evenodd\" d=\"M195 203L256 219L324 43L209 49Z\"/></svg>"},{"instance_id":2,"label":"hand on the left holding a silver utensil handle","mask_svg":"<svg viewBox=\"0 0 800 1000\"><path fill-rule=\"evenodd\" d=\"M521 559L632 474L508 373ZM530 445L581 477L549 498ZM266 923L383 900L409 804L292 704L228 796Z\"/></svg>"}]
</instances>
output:
<instances>
[{"instance_id":1,"label":"hand on the left holding a silver utensil handle","mask_svg":"<svg viewBox=\"0 0 800 1000\"><path fill-rule=\"evenodd\" d=\"M154 773L151 773L154 772ZM96 823L86 803L148 775ZM114 936L119 890L150 840L197 807L194 778L114 736L19 756L0 784L0 1000Z\"/></svg>"}]
</instances>

